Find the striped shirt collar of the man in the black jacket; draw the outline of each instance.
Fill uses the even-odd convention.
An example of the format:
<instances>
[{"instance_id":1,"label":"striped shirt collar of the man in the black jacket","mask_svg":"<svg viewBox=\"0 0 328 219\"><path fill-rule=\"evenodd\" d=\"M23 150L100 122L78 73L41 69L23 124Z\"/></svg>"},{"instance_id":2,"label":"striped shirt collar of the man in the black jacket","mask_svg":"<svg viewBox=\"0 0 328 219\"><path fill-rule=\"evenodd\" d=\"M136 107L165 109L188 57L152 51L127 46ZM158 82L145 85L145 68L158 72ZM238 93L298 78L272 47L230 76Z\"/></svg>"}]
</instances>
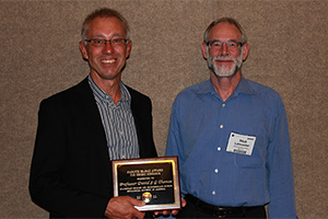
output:
<instances>
[{"instance_id":1,"label":"striped shirt collar of the man in the black jacket","mask_svg":"<svg viewBox=\"0 0 328 219\"><path fill-rule=\"evenodd\" d=\"M91 74L89 74L87 77L89 80L89 84L91 87L91 90L93 92L93 94L95 95L96 99L101 100L101 101L113 101L113 99L110 97L110 95L108 95L106 92L104 92L92 79ZM126 88L126 85L120 81L119 82L119 89L121 92L121 97L119 100L119 102L130 102L131 101L131 95L128 91L128 89Z\"/></svg>"}]
</instances>

